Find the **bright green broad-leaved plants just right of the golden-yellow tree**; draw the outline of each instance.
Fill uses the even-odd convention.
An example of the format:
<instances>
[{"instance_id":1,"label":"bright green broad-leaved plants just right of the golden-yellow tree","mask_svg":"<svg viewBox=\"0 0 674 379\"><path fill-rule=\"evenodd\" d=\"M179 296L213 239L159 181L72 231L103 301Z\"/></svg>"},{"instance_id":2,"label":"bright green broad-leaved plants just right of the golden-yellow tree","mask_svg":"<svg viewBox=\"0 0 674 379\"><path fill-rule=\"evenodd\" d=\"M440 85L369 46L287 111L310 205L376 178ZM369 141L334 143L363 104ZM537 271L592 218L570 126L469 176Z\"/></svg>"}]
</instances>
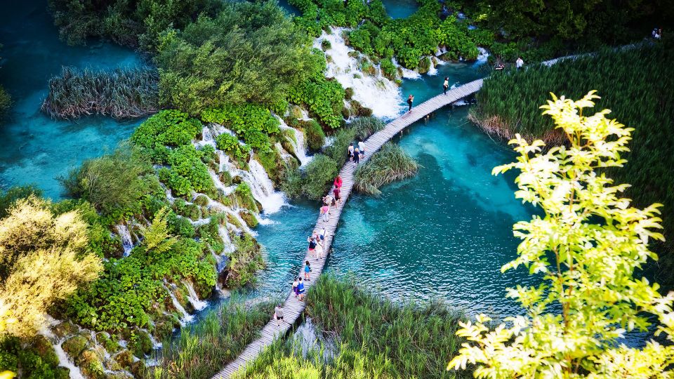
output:
<instances>
[{"instance_id":1,"label":"bright green broad-leaved plants just right of the golden-yellow tree","mask_svg":"<svg viewBox=\"0 0 674 379\"><path fill-rule=\"evenodd\" d=\"M152 331L159 327L157 320L166 319L162 311L170 303L164 279L180 283L190 278L197 288L210 291L216 284L213 265L210 254L204 258L204 246L192 239L179 239L164 253L137 247L126 258L106 262L100 279L68 300L67 314L95 331L128 333L133 327ZM169 322L171 331L177 319L169 317ZM157 331L165 334L166 329Z\"/></svg>"}]
</instances>

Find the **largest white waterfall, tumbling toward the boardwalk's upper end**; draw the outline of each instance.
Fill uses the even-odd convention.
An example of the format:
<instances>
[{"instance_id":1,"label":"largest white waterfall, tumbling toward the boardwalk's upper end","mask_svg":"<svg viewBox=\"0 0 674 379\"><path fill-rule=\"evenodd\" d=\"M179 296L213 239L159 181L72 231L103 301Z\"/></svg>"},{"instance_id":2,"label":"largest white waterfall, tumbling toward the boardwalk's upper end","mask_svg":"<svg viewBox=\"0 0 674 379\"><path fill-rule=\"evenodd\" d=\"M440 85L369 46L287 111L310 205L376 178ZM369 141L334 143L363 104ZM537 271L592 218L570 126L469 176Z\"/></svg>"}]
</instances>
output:
<instances>
[{"instance_id":1,"label":"largest white waterfall, tumbling toward the boardwalk's upper end","mask_svg":"<svg viewBox=\"0 0 674 379\"><path fill-rule=\"evenodd\" d=\"M353 88L353 98L372 109L374 117L395 119L404 108L400 104L400 88L381 74L373 77L361 72L358 60L349 56L354 50L346 46L341 36L345 30L335 27L331 34L323 32L314 40L315 48L321 48L323 40L330 42L330 48L325 52L331 58L326 77L334 77L344 88Z\"/></svg>"}]
</instances>

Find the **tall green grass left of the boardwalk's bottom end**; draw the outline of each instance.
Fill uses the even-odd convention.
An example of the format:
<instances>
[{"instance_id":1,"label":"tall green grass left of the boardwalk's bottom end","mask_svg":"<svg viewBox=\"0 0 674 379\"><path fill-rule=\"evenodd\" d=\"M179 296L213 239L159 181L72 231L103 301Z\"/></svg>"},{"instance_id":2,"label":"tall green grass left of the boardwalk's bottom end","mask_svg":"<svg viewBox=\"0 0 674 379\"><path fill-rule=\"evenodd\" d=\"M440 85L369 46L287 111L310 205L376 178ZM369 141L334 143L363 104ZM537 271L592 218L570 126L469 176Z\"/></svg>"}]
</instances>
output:
<instances>
[{"instance_id":1,"label":"tall green grass left of the boardwalk's bottom end","mask_svg":"<svg viewBox=\"0 0 674 379\"><path fill-rule=\"evenodd\" d=\"M184 328L175 341L164 343L159 365L147 368L145 378L211 378L257 338L273 309L273 302L250 309L242 302L228 302L219 312Z\"/></svg>"}]
</instances>

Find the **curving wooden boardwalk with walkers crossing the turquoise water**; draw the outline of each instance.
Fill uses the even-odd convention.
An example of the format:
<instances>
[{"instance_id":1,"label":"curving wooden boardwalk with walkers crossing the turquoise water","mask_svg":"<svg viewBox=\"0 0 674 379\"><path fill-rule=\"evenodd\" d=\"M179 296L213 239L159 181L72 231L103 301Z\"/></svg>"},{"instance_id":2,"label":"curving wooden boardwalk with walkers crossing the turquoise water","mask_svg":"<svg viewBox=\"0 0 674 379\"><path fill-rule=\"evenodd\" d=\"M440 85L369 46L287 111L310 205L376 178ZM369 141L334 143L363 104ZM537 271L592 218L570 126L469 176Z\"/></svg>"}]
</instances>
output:
<instances>
[{"instance_id":1,"label":"curving wooden boardwalk with walkers crossing the turquoise water","mask_svg":"<svg viewBox=\"0 0 674 379\"><path fill-rule=\"evenodd\" d=\"M417 107L412 108L412 112L406 112L402 116L391 121L385 126L385 128L383 128L381 131L378 131L377 133L374 133L365 141L366 157L361 161L367 161L367 159L369 159L369 157L371 157L374 152L376 152L386 142L388 142L388 140L393 138L404 128L407 128L407 126L413 124L415 121L422 119L427 114L435 112L437 109L440 109L445 105L449 105L452 102L461 100L468 95L472 95L473 93L479 91L481 87L482 79L477 79L475 81L471 81L470 83L463 84L463 86L458 86L448 90L447 95L441 93L440 95L435 96L435 98L431 98L425 102L422 102ZM314 228L315 230L321 230L322 227L325 227L326 230L323 248L325 258L323 260L317 260L309 254L305 256L303 262L306 260L310 261L312 270L311 281L305 281L306 290L309 290L311 286L316 283L319 275L321 272L323 272L325 260L327 259L327 255L330 252L332 238L335 235L337 223L339 222L339 218L342 214L342 209L344 208L344 205L351 194L351 189L353 187L353 173L355 168L355 164L352 162L346 162L341 171L339 171L339 175L343 180L341 189L342 201L340 204L337 204L336 207L331 208L331 214L327 222L324 222L320 216L316 222L316 226ZM300 269L298 277L302 276L303 272ZM274 320L268 322L260 332L260 337L248 345L242 354L237 357L237 359L234 359L234 361L230 362L230 364L227 364L227 366L225 366L222 371L214 375L214 379L230 378L232 374L246 366L246 363L256 359L258 354L260 354L260 352L262 352L265 347L271 345L275 338L285 335L291 326L295 324L295 321L304 312L305 302L297 300L295 295L290 291L290 287L291 284L288 284L289 294L283 305L284 322L281 323L281 326L277 326L277 323Z\"/></svg>"}]
</instances>

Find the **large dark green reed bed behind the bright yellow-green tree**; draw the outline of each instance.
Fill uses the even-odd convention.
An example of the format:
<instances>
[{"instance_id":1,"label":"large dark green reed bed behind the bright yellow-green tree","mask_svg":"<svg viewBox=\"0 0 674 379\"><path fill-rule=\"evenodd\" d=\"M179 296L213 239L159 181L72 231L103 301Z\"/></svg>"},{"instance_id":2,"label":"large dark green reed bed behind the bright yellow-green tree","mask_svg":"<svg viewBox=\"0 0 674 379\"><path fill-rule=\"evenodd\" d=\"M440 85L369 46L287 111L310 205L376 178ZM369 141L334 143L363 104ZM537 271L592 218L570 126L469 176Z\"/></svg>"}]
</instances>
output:
<instances>
[{"instance_id":1,"label":"large dark green reed bed behind the bright yellow-green tree","mask_svg":"<svg viewBox=\"0 0 674 379\"><path fill-rule=\"evenodd\" d=\"M538 107L549 93L578 99L590 90L602 98L595 111L611 109L609 117L635 128L625 168L609 171L618 182L633 185L628 197L639 206L665 205L665 237L674 241L674 48L666 44L604 50L552 67L531 66L520 72L496 72L477 93L471 117L487 133L508 139L515 133L564 143L550 117ZM663 251L659 281L674 284L674 244Z\"/></svg>"}]
</instances>

